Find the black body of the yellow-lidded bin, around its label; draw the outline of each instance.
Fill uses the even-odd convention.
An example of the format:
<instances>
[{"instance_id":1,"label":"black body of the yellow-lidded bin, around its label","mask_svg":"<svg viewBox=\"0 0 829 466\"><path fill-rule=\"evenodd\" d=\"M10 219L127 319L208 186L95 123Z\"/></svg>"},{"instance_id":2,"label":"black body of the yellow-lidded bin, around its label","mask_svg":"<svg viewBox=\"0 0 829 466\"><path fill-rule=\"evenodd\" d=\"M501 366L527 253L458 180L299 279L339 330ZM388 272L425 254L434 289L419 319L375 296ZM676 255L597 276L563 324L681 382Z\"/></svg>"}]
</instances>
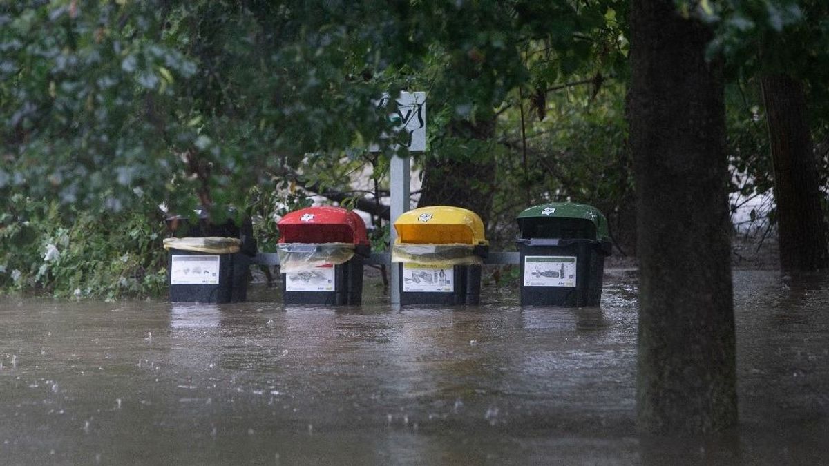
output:
<instances>
[{"instance_id":1,"label":"black body of the yellow-lidded bin, around its label","mask_svg":"<svg viewBox=\"0 0 829 466\"><path fill-rule=\"evenodd\" d=\"M404 264L400 267L400 304L426 304L435 306L453 306L478 304L481 302L481 266L455 265L452 268L452 291L405 291Z\"/></svg>"}]
</instances>

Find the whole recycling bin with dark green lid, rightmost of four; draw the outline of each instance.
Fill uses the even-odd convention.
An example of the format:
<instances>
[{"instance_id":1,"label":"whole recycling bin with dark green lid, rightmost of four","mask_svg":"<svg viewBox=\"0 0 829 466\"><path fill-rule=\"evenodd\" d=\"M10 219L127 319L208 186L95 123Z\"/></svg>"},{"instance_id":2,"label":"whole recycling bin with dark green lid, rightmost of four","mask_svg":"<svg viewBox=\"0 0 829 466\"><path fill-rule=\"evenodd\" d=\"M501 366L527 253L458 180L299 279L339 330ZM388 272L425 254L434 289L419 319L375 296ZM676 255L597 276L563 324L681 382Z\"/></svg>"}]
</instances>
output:
<instances>
[{"instance_id":1,"label":"whole recycling bin with dark green lid, rightmost of four","mask_svg":"<svg viewBox=\"0 0 829 466\"><path fill-rule=\"evenodd\" d=\"M521 305L599 306L611 252L604 215L593 206L554 202L530 207L516 220Z\"/></svg>"}]
</instances>

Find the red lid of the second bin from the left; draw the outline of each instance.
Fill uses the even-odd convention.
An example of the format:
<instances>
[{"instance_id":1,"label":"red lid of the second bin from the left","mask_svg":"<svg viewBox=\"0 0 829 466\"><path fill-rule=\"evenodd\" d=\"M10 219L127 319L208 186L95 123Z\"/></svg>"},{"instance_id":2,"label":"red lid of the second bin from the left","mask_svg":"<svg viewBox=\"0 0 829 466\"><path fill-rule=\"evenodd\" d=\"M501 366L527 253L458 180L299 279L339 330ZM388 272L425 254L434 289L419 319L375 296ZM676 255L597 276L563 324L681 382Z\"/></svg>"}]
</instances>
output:
<instances>
[{"instance_id":1,"label":"red lid of the second bin from the left","mask_svg":"<svg viewBox=\"0 0 829 466\"><path fill-rule=\"evenodd\" d=\"M366 222L342 207L308 207L282 217L280 243L353 243L368 245Z\"/></svg>"}]
</instances>

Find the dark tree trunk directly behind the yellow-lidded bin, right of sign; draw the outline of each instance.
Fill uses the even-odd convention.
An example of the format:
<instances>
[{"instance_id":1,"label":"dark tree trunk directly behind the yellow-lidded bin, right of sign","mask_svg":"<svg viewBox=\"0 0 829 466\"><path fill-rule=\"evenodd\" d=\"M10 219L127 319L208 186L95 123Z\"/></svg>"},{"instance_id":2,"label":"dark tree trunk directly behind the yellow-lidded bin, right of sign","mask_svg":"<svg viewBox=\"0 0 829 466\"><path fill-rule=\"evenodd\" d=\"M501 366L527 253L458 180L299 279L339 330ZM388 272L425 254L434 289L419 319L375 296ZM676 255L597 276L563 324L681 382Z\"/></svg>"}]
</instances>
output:
<instances>
[{"instance_id":1,"label":"dark tree trunk directly behind the yellow-lidded bin, right of sign","mask_svg":"<svg viewBox=\"0 0 829 466\"><path fill-rule=\"evenodd\" d=\"M487 140L495 135L495 120L472 123L455 121L449 134L455 138ZM419 207L457 206L481 216L483 224L492 210L495 158L489 153L468 153L460 158L428 158L424 166Z\"/></svg>"}]
</instances>

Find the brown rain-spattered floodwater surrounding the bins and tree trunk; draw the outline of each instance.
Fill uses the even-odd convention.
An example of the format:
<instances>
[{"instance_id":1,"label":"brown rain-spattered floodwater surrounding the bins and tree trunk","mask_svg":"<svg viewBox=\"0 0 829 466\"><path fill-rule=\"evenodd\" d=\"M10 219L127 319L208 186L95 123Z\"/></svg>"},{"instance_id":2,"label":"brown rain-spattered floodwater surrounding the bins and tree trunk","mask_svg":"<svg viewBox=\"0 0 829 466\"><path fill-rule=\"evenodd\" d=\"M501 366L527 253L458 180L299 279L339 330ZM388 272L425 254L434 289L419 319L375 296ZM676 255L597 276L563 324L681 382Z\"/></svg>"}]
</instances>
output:
<instances>
[{"instance_id":1,"label":"brown rain-spattered floodwater surrounding the bins and tree trunk","mask_svg":"<svg viewBox=\"0 0 829 466\"><path fill-rule=\"evenodd\" d=\"M700 441L636 433L629 271L580 309L0 298L0 464L827 464L829 278L734 289L741 426Z\"/></svg>"}]
</instances>

